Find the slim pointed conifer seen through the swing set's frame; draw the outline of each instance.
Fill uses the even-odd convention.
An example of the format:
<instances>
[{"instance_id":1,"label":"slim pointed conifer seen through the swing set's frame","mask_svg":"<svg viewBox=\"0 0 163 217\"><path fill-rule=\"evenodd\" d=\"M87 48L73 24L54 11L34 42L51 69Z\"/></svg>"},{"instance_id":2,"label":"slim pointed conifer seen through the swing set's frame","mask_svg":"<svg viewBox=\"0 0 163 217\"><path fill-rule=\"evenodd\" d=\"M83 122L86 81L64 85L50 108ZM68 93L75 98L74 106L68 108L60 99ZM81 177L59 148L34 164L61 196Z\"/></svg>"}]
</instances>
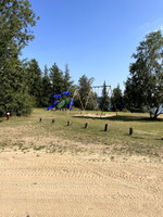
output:
<instances>
[{"instance_id":1,"label":"slim pointed conifer seen through the swing set's frame","mask_svg":"<svg viewBox=\"0 0 163 217\"><path fill-rule=\"evenodd\" d=\"M105 86L105 81L103 82L103 89L102 89L102 97L100 100L100 108L102 111L109 111L109 104L110 104L110 99L106 92L106 86Z\"/></svg>"}]
</instances>

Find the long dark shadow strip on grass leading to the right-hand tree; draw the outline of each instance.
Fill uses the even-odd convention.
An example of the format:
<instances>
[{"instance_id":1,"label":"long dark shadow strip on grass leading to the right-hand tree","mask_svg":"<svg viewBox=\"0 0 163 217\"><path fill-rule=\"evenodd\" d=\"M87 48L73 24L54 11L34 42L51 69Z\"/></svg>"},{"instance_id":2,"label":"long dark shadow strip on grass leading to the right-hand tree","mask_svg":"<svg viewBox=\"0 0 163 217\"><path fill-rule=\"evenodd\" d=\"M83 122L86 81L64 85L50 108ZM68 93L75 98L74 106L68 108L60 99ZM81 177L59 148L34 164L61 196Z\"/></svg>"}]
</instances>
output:
<instances>
[{"instance_id":1,"label":"long dark shadow strip on grass leading to the right-hand tree","mask_svg":"<svg viewBox=\"0 0 163 217\"><path fill-rule=\"evenodd\" d=\"M105 117L100 117L100 116L73 116L73 118L82 118L82 119L108 119L108 120L118 120L118 122L163 122L163 119L158 118L158 119L150 119L150 117L145 117L145 116L133 116L133 115L117 115L117 116L105 116Z\"/></svg>"}]
</instances>

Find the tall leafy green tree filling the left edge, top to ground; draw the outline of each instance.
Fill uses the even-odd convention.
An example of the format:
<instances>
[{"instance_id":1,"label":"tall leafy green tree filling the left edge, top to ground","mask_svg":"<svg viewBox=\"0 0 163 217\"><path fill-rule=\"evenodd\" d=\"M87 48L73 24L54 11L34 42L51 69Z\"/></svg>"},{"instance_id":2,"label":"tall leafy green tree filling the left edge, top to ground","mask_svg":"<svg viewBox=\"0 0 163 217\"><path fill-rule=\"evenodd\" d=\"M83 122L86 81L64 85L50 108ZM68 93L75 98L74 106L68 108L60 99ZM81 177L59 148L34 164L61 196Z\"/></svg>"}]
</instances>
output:
<instances>
[{"instance_id":1,"label":"tall leafy green tree filling the left edge, top to ground","mask_svg":"<svg viewBox=\"0 0 163 217\"><path fill-rule=\"evenodd\" d=\"M36 15L28 0L0 1L0 115L28 114L30 97L27 93L25 68L18 60L22 48L34 38L29 27L36 25Z\"/></svg>"}]
</instances>

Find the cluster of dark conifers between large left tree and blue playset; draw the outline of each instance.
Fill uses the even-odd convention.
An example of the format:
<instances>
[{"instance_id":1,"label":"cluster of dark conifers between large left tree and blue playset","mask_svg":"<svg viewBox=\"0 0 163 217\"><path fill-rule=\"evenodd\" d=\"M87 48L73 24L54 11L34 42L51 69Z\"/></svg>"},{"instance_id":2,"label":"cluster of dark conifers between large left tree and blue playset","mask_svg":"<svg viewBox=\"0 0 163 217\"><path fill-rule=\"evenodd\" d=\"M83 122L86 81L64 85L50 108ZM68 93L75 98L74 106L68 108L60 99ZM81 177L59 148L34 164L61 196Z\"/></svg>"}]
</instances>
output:
<instances>
[{"instance_id":1,"label":"cluster of dark conifers between large left tree and blue playset","mask_svg":"<svg viewBox=\"0 0 163 217\"><path fill-rule=\"evenodd\" d=\"M62 73L55 63L50 69L48 69L46 65L43 75L35 59L26 62L25 67L26 85L28 87L28 92L35 102L35 106L49 106L53 101L53 95L62 94L63 91L68 90L73 93L73 81L71 81L67 64L65 65L64 73Z\"/></svg>"}]
</instances>

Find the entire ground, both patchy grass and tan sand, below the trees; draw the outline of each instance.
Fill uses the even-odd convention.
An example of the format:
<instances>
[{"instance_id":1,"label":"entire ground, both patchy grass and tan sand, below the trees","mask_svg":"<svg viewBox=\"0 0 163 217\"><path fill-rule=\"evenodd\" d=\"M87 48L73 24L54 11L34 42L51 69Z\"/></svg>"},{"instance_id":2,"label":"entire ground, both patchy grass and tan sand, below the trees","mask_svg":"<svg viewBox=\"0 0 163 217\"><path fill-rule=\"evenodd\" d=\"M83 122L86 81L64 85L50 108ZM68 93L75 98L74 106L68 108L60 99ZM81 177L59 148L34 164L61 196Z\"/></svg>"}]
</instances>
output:
<instances>
[{"instance_id":1,"label":"entire ground, both patchy grass and tan sand, below the trees","mask_svg":"<svg viewBox=\"0 0 163 217\"><path fill-rule=\"evenodd\" d=\"M0 216L162 217L162 117L35 108L0 122Z\"/></svg>"}]
</instances>

